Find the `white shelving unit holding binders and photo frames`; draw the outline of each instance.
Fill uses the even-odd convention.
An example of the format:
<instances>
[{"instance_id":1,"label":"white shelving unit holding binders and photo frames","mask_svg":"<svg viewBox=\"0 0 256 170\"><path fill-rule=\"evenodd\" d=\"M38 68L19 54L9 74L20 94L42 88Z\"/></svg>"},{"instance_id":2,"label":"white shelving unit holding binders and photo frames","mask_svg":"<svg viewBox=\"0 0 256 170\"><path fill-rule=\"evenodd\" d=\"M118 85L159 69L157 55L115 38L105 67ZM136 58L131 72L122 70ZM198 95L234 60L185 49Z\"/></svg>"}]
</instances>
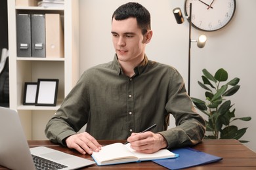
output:
<instances>
[{"instance_id":1,"label":"white shelving unit holding binders and photo frames","mask_svg":"<svg viewBox=\"0 0 256 170\"><path fill-rule=\"evenodd\" d=\"M15 0L8 1L10 108L18 110L28 140L46 139L44 133L46 123L78 80L79 1L64 0L64 3L64 9L61 9L19 7L15 5ZM58 13L64 16L64 58L17 57L16 14L18 13ZM22 105L24 83L37 82L37 78L59 79L56 107Z\"/></svg>"}]
</instances>

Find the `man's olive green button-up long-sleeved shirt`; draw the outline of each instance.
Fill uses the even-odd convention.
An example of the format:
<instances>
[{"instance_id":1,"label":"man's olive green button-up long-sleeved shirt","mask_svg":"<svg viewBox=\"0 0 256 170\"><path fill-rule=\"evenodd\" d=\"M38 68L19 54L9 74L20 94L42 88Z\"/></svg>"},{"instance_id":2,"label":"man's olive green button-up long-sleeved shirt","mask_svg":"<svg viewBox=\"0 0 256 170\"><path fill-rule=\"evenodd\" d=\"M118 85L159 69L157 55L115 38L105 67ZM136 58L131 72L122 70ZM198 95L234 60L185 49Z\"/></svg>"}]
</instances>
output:
<instances>
[{"instance_id":1,"label":"man's olive green button-up long-sleeved shirt","mask_svg":"<svg viewBox=\"0 0 256 170\"><path fill-rule=\"evenodd\" d=\"M65 145L66 137L87 124L86 131L97 140L127 139L157 124L152 131L163 135L169 148L202 141L205 122L195 112L178 71L146 56L134 71L132 77L124 75L117 56L85 71L49 120L47 137ZM176 122L171 129L169 114Z\"/></svg>"}]
</instances>

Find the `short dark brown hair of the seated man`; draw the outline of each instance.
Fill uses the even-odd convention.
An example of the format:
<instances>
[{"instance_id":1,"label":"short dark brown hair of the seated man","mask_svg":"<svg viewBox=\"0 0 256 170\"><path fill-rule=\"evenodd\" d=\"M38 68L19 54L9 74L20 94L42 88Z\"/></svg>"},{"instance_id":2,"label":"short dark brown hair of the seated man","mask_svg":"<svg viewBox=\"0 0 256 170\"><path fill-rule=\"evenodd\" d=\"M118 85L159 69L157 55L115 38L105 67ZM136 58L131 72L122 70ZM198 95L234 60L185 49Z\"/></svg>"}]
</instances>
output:
<instances>
[{"instance_id":1,"label":"short dark brown hair of the seated man","mask_svg":"<svg viewBox=\"0 0 256 170\"><path fill-rule=\"evenodd\" d=\"M140 5L139 3L126 3L121 5L112 15L115 20L125 20L127 18L136 18L137 24L139 25L142 35L144 35L150 26L150 12Z\"/></svg>"}]
</instances>

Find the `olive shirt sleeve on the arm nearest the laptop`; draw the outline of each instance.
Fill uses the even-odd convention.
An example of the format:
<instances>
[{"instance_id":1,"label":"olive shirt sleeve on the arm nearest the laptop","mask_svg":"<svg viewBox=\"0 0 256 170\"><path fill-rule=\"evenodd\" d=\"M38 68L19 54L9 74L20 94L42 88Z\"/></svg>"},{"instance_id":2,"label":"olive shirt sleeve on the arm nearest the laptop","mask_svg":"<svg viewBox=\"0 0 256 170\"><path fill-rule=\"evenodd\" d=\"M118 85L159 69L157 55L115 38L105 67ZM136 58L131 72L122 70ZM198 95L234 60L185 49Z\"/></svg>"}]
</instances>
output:
<instances>
[{"instance_id":1,"label":"olive shirt sleeve on the arm nearest the laptop","mask_svg":"<svg viewBox=\"0 0 256 170\"><path fill-rule=\"evenodd\" d=\"M58 109L47 123L45 135L50 141L66 145L64 139L74 135L83 127L89 116L89 99L87 95L87 79L84 73L72 91L64 99ZM83 114L81 114L83 112Z\"/></svg>"}]
</instances>

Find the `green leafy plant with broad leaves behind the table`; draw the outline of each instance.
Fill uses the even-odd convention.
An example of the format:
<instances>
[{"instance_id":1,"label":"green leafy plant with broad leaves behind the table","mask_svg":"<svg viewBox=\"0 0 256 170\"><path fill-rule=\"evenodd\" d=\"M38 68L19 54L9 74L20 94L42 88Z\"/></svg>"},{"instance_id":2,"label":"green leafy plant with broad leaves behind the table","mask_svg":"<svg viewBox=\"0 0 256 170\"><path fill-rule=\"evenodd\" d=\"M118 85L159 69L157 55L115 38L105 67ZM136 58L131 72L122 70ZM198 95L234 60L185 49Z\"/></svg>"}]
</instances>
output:
<instances>
[{"instance_id":1,"label":"green leafy plant with broad leaves behind the table","mask_svg":"<svg viewBox=\"0 0 256 170\"><path fill-rule=\"evenodd\" d=\"M192 101L197 109L208 116L206 122L206 131L211 135L205 135L205 139L240 139L246 132L247 127L238 129L233 124L236 120L249 121L251 117L235 118L236 109L232 109L234 104L227 97L238 92L240 78L233 78L229 82L228 73L224 69L219 69L215 75L211 75L206 69L203 69L203 82L198 84L205 91L205 101L192 97ZM247 143L248 141L241 141Z\"/></svg>"}]
</instances>

